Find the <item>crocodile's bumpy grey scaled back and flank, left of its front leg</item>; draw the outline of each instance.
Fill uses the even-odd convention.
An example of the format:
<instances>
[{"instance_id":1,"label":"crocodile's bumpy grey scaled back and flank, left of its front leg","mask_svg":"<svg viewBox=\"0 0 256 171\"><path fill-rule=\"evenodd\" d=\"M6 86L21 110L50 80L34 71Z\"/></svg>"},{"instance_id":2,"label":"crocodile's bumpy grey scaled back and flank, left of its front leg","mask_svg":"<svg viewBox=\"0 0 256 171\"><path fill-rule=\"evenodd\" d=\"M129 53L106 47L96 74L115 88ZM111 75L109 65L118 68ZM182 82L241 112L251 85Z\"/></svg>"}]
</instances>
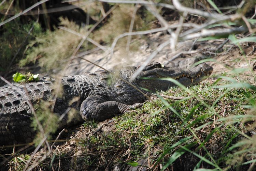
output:
<instances>
[{"instance_id":1,"label":"crocodile's bumpy grey scaled back and flank, left of its front leg","mask_svg":"<svg viewBox=\"0 0 256 171\"><path fill-rule=\"evenodd\" d=\"M79 114L81 103L92 92L101 92L107 78L107 74L101 71L61 79L61 93L53 108L53 112L61 118L57 123L59 129L82 122ZM14 83L0 88L0 146L33 140L35 131L31 126L33 113L29 102L34 105L40 100L53 100L54 84L55 80L42 78L38 82ZM69 118L67 113L71 108L75 108L77 113Z\"/></svg>"}]
</instances>

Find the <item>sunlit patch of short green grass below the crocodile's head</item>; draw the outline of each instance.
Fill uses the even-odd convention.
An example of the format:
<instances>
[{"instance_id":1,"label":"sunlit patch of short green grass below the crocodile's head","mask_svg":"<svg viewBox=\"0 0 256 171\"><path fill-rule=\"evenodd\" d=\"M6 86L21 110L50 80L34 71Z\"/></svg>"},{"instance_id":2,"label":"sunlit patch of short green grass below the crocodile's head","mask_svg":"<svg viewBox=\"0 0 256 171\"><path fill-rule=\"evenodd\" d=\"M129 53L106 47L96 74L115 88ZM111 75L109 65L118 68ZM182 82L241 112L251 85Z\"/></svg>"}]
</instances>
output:
<instances>
[{"instance_id":1,"label":"sunlit patch of short green grass below the crocodile's head","mask_svg":"<svg viewBox=\"0 0 256 171\"><path fill-rule=\"evenodd\" d=\"M84 147L116 149L122 156L119 162L146 158L149 149L150 155L154 153L150 165L156 167L158 162L168 167L189 151L217 170L238 169L250 159L250 153L255 154L248 127L255 119L252 88L235 88L230 81L217 79L213 84L191 86L188 91L174 87L162 93L184 99L148 101L140 109L117 116L114 132L92 135ZM166 155L161 156L163 153Z\"/></svg>"}]
</instances>

